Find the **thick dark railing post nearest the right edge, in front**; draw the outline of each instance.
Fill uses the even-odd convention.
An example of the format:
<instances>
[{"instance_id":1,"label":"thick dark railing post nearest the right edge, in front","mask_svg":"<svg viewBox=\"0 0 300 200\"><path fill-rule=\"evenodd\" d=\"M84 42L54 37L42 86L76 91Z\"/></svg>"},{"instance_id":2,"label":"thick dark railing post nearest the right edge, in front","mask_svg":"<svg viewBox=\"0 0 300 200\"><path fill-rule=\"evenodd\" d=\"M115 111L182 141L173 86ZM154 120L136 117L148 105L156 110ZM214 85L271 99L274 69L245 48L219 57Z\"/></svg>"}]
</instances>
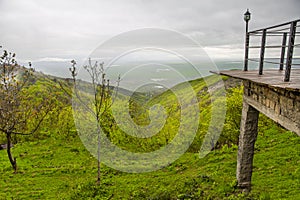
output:
<instances>
[{"instance_id":1,"label":"thick dark railing post nearest the right edge, in front","mask_svg":"<svg viewBox=\"0 0 300 200\"><path fill-rule=\"evenodd\" d=\"M289 46L288 46L288 52L287 52L287 57L286 57L286 68L285 68L285 76L284 76L285 82L290 81L296 26L297 26L297 21L293 21L291 23L291 28L290 28Z\"/></svg>"}]
</instances>

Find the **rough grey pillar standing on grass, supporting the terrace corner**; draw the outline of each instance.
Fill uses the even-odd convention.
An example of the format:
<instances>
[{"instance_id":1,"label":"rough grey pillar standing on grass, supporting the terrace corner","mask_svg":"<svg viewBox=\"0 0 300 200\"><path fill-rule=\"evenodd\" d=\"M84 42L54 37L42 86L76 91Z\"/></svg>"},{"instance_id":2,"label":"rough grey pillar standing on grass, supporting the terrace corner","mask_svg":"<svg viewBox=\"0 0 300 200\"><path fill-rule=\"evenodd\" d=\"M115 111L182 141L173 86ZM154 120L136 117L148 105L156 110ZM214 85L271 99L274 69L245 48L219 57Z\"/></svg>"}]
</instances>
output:
<instances>
[{"instance_id":1,"label":"rough grey pillar standing on grass, supporting the terrace corner","mask_svg":"<svg viewBox=\"0 0 300 200\"><path fill-rule=\"evenodd\" d=\"M254 144L257 137L258 116L259 112L244 100L236 177L238 187L246 192L250 192L251 189L252 163Z\"/></svg>"}]
</instances>

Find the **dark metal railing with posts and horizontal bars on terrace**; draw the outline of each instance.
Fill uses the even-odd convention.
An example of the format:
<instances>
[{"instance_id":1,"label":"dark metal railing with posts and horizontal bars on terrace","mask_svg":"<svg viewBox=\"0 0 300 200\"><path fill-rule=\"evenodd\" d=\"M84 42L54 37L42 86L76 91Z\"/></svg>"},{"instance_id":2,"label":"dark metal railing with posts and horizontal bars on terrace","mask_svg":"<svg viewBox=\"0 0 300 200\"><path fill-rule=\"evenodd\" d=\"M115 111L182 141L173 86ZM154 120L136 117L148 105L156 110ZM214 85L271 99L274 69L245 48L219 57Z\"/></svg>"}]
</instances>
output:
<instances>
[{"instance_id":1,"label":"dark metal railing with posts and horizontal bars on terrace","mask_svg":"<svg viewBox=\"0 0 300 200\"><path fill-rule=\"evenodd\" d=\"M245 60L244 60L244 71L248 71L248 61L254 61L259 63L259 75L263 74L264 63L276 64L279 65L279 70L283 70L285 66L285 76L284 81L290 81L291 67L292 65L300 65L298 63L293 63L293 60L300 59L295 58L293 53L294 49L300 47L300 44L296 43L296 36L299 36L300 32L297 32L297 23L300 21L294 20L291 22L270 26L263 29L258 29L246 33L246 42L245 42ZM298 23L299 24L299 23ZM261 41L259 45L250 46L250 37L260 37ZM267 37L278 37L281 38L281 45L267 45ZM288 43L287 43L288 42ZM258 59L248 58L249 49L260 49L260 57ZM267 61L265 58L265 51L268 48L279 49L280 58L279 62ZM286 51L287 48L287 51Z\"/></svg>"}]
</instances>

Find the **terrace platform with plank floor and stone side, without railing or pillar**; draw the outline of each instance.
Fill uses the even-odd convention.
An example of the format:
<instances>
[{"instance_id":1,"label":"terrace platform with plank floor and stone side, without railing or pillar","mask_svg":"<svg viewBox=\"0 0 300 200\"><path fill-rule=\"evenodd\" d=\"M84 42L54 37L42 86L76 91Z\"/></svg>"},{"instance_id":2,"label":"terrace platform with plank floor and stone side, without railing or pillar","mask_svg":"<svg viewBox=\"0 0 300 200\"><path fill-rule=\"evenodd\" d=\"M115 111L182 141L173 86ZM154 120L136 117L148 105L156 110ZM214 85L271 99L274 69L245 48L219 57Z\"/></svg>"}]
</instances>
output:
<instances>
[{"instance_id":1,"label":"terrace platform with plank floor and stone side, without railing or pillar","mask_svg":"<svg viewBox=\"0 0 300 200\"><path fill-rule=\"evenodd\" d=\"M300 136L300 69L293 69L290 81L284 82L284 71L220 71L221 75L243 80L244 103L254 107L275 122Z\"/></svg>"}]
</instances>

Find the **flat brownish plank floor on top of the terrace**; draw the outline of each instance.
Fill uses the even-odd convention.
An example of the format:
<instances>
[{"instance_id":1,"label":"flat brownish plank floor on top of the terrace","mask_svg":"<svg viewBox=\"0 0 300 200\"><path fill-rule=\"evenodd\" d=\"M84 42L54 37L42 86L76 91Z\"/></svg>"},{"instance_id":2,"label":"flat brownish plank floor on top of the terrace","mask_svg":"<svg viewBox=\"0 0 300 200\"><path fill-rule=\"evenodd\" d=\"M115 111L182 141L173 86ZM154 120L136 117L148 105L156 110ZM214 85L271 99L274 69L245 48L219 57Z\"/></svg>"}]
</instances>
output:
<instances>
[{"instance_id":1,"label":"flat brownish plank floor on top of the terrace","mask_svg":"<svg viewBox=\"0 0 300 200\"><path fill-rule=\"evenodd\" d=\"M285 71L280 70L264 70L263 75L258 74L258 70L226 70L219 72L212 72L215 74L230 76L242 80L250 80L259 84L269 85L270 87L277 87L287 90L300 92L300 69L292 69L289 82L284 82Z\"/></svg>"}]
</instances>

